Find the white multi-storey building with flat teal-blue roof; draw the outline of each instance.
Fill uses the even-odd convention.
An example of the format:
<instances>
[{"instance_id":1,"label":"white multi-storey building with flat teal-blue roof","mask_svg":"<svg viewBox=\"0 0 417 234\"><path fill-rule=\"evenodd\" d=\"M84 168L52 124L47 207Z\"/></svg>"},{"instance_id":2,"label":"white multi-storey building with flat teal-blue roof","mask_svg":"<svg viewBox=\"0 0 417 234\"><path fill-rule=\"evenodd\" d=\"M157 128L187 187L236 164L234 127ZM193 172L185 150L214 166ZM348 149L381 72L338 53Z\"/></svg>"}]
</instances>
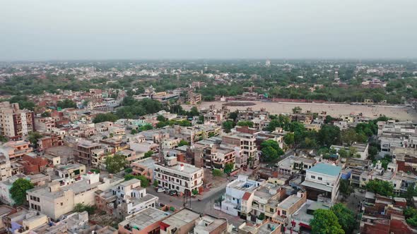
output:
<instances>
[{"instance_id":1,"label":"white multi-storey building with flat teal-blue roof","mask_svg":"<svg viewBox=\"0 0 417 234\"><path fill-rule=\"evenodd\" d=\"M307 190L307 198L317 200L319 195L331 199L334 204L339 195L341 167L330 164L316 164L305 170L305 180L301 185Z\"/></svg>"}]
</instances>

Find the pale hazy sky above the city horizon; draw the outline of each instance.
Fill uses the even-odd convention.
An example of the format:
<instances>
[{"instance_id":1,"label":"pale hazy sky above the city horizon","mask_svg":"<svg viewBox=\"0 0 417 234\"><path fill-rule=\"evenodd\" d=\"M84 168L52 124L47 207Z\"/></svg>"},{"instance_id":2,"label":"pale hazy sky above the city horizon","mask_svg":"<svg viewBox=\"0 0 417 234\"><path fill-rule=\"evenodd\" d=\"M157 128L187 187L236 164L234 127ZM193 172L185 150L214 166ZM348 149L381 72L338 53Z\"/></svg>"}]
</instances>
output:
<instances>
[{"instance_id":1,"label":"pale hazy sky above the city horizon","mask_svg":"<svg viewBox=\"0 0 417 234\"><path fill-rule=\"evenodd\" d=\"M416 0L2 0L0 61L416 58Z\"/></svg>"}]
</instances>

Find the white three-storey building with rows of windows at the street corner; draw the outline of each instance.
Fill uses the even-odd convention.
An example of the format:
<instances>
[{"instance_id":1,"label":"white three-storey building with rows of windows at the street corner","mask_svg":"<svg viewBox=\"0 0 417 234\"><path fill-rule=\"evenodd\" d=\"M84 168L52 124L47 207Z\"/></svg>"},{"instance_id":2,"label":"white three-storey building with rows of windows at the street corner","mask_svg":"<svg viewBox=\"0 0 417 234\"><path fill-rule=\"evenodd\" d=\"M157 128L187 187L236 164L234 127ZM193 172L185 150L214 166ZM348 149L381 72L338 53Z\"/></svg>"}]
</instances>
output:
<instances>
[{"instance_id":1,"label":"white three-storey building with rows of windows at the street corner","mask_svg":"<svg viewBox=\"0 0 417 234\"><path fill-rule=\"evenodd\" d=\"M165 164L155 164L154 177L161 187L189 193L193 190L202 192L204 171L202 168L178 163L177 157L165 157Z\"/></svg>"}]
</instances>

